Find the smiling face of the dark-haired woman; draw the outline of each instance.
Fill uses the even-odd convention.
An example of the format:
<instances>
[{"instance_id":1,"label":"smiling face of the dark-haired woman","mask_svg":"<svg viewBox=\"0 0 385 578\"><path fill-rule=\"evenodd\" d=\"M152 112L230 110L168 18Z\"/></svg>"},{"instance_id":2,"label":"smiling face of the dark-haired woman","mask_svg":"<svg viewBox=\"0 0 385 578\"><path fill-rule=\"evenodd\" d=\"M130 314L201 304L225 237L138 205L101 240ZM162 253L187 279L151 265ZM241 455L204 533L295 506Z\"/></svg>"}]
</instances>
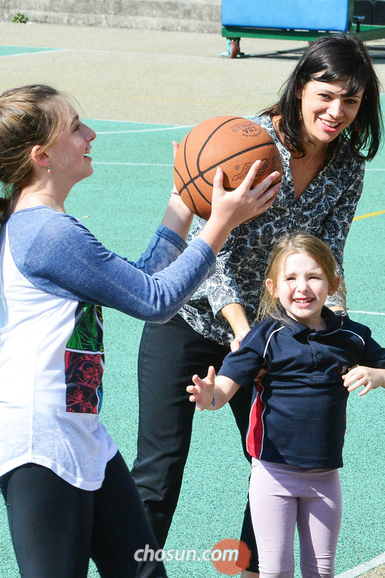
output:
<instances>
[{"instance_id":1,"label":"smiling face of the dark-haired woman","mask_svg":"<svg viewBox=\"0 0 385 578\"><path fill-rule=\"evenodd\" d=\"M311 80L297 93L304 131L316 146L327 146L356 118L364 91L347 96L345 85Z\"/></svg>"}]
</instances>

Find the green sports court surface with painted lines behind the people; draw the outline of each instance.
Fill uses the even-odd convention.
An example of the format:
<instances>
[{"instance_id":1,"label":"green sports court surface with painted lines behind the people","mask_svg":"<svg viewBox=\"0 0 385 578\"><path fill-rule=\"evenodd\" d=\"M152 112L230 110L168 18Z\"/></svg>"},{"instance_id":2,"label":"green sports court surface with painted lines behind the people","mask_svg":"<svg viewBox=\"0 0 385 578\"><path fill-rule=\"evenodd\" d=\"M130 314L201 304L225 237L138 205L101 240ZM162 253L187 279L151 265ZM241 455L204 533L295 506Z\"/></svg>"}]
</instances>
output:
<instances>
[{"instance_id":1,"label":"green sports court surface with painted lines behind the people","mask_svg":"<svg viewBox=\"0 0 385 578\"><path fill-rule=\"evenodd\" d=\"M14 48L14 47L13 47ZM0 51L0 55L1 55ZM134 260L163 216L172 186L171 141L188 126L88 120L96 131L93 176L68 198L68 213L80 218L108 248ZM369 325L385 344L385 151L366 169L364 193L345 250L351 318ZM142 323L104 310L106 373L101 418L128 465L135 457L138 422L136 357ZM337 552L337 576L356 578L385 562L385 391L348 404L344 468L344 519ZM195 549L197 557L221 539L239 537L249 465L230 409L197 412L178 509L165 549ZM297 544L296 544L297 548ZM367 563L367 564L366 564ZM366 564L366 566L362 566ZM171 578L216 578L203 560L167 563ZM18 575L0 500L0 578ZM97 577L91 564L89 577ZM296 576L299 576L297 570Z\"/></svg>"}]
</instances>

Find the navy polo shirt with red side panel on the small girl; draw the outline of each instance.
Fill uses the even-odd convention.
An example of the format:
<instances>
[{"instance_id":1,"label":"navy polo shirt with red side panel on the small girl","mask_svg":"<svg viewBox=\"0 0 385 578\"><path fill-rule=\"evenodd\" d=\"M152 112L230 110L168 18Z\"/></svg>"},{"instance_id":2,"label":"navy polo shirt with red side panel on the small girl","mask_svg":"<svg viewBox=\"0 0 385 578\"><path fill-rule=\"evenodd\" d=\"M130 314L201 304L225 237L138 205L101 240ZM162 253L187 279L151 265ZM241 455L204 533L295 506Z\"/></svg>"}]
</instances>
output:
<instances>
[{"instance_id":1,"label":"navy polo shirt with red side panel on the small girl","mask_svg":"<svg viewBox=\"0 0 385 578\"><path fill-rule=\"evenodd\" d=\"M327 328L266 318L229 353L218 375L254 387L247 450L267 462L306 468L342 467L349 392L342 375L353 365L385 368L385 349L365 325L328 308ZM262 366L267 373L259 383Z\"/></svg>"}]
</instances>

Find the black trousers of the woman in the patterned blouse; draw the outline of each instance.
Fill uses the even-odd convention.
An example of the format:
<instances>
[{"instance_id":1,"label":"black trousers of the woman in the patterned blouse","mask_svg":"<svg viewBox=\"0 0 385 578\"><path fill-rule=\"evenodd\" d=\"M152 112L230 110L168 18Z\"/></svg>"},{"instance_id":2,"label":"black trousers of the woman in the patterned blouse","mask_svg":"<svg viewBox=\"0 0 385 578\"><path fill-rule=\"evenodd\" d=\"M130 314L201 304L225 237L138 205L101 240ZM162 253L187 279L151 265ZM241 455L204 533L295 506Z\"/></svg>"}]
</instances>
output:
<instances>
[{"instance_id":1,"label":"black trousers of the woman in the patterned blouse","mask_svg":"<svg viewBox=\"0 0 385 578\"><path fill-rule=\"evenodd\" d=\"M176 315L164 325L146 323L138 358L138 455L132 474L151 527L163 547L178 503L183 471L190 449L195 404L186 387L192 376L218 371L230 347L202 337ZM245 440L252 392L242 387L230 406ZM247 501L241 539L252 550L249 569L257 572L258 557Z\"/></svg>"}]
</instances>

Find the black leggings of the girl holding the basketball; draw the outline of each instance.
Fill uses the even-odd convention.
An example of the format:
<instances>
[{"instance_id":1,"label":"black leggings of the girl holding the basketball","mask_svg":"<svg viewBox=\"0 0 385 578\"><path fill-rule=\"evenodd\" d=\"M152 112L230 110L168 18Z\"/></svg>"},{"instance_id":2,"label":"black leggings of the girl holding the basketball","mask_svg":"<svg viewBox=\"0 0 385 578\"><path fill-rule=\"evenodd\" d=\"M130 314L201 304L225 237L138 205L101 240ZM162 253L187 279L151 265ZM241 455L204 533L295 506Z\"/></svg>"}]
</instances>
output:
<instances>
[{"instance_id":1,"label":"black leggings of the girl holding the basketball","mask_svg":"<svg viewBox=\"0 0 385 578\"><path fill-rule=\"evenodd\" d=\"M90 557L102 578L166 576L162 562L135 562L135 550L156 552L158 543L119 453L93 492L36 464L0 477L0 486L22 577L86 578Z\"/></svg>"}]
</instances>

